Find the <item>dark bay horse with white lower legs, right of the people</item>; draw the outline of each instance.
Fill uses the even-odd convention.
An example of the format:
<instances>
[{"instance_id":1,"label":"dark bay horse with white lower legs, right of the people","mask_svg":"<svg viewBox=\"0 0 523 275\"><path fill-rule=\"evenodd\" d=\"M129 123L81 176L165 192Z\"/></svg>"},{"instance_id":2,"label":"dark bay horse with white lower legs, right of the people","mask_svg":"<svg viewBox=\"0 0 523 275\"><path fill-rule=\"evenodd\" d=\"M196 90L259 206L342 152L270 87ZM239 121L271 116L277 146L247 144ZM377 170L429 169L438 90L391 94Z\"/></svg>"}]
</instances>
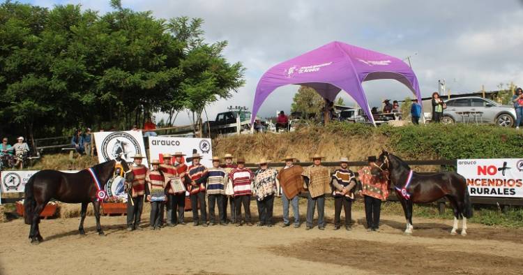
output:
<instances>
[{"instance_id":1,"label":"dark bay horse with white lower legs, right of the people","mask_svg":"<svg viewBox=\"0 0 523 275\"><path fill-rule=\"evenodd\" d=\"M397 198L402 204L407 219L406 234L411 234L414 228L412 226L414 203L435 202L445 197L454 211L454 224L450 234L457 234L457 223L462 218L461 235L467 235L467 218L472 217L472 206L467 180L462 175L456 172L418 174L411 170L407 163L385 150L381 150L377 166L373 169L376 168L389 172L389 179L395 186Z\"/></svg>"}]
</instances>

